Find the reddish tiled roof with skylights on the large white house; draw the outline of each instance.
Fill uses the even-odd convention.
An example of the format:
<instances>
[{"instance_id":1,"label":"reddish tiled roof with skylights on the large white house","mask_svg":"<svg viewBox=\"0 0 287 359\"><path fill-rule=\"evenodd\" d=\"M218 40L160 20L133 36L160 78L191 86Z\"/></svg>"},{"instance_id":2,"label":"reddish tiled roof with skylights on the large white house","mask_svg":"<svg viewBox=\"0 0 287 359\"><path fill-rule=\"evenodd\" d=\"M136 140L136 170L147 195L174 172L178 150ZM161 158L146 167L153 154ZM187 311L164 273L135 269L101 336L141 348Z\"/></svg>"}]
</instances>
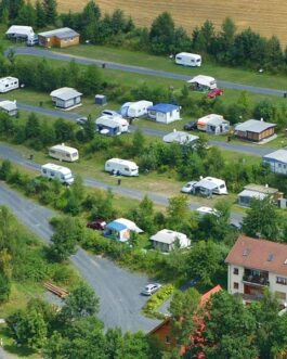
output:
<instances>
[{"instance_id":1,"label":"reddish tiled roof with skylights on the large white house","mask_svg":"<svg viewBox=\"0 0 287 359\"><path fill-rule=\"evenodd\" d=\"M225 262L287 275L287 245L240 235Z\"/></svg>"}]
</instances>

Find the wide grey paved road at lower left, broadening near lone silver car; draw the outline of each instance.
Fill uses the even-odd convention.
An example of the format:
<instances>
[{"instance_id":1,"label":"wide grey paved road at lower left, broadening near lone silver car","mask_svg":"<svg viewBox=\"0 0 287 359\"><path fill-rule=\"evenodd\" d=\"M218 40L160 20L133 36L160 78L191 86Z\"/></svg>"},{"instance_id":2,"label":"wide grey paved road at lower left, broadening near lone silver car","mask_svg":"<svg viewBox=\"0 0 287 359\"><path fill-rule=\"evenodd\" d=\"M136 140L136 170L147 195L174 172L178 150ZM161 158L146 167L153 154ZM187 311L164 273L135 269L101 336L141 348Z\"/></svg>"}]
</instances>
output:
<instances>
[{"instance_id":1,"label":"wide grey paved road at lower left, broadening near lone silver car","mask_svg":"<svg viewBox=\"0 0 287 359\"><path fill-rule=\"evenodd\" d=\"M0 204L10 207L26 227L50 243L53 230L49 219L55 216L56 211L23 197L3 182L0 182ZM140 292L148 282L146 277L128 272L112 261L92 256L81 248L70 259L99 295L99 317L106 328L120 326L123 332L148 332L159 323L158 320L147 319L141 315L146 297L141 296Z\"/></svg>"}]
</instances>

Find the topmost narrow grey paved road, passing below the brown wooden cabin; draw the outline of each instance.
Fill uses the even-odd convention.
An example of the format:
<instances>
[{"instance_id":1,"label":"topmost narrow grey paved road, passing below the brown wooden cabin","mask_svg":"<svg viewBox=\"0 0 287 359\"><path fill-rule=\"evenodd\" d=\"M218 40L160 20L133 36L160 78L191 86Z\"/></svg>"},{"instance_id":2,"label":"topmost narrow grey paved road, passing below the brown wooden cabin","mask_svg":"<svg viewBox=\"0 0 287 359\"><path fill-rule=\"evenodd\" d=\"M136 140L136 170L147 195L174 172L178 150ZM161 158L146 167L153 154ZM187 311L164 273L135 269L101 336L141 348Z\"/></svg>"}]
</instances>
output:
<instances>
[{"instance_id":1,"label":"topmost narrow grey paved road, passing below the brown wooden cabin","mask_svg":"<svg viewBox=\"0 0 287 359\"><path fill-rule=\"evenodd\" d=\"M5 51L8 53L9 50ZM151 69L151 68L145 68L145 67L140 67L140 66L131 66L131 65L125 65L125 64L119 64L115 62L109 62L105 60L100 60L100 59L89 59L89 57L82 57L82 56L76 56L76 55L70 55L70 54L63 54L63 53L57 53L53 52L50 50L42 50L38 48L16 48L15 49L15 54L16 55L29 55L29 56L37 56L37 57L45 57L45 59L52 59L52 60L60 60L60 61L71 61L75 60L75 62L83 65L97 65L102 66L103 63L106 64L107 68L110 69L119 69L128 73L136 73L141 75L147 75L147 76L156 76L156 77L164 77L164 78L170 78L170 79L175 79L175 80L183 80L187 81L191 79L191 76L187 75L180 75L180 74L174 74L174 73L168 73L164 70L158 70L158 69ZM260 94L266 94L266 95L276 95L276 97L283 97L285 89L283 90L275 90L275 89L269 89L269 88L262 88L262 87L256 87L256 86L248 86L244 84L235 84L235 82L230 82L230 81L222 81L218 79L218 85L219 87L224 87L227 89L234 89L234 90L246 90L249 92L255 92L255 93L260 93Z\"/></svg>"}]
</instances>

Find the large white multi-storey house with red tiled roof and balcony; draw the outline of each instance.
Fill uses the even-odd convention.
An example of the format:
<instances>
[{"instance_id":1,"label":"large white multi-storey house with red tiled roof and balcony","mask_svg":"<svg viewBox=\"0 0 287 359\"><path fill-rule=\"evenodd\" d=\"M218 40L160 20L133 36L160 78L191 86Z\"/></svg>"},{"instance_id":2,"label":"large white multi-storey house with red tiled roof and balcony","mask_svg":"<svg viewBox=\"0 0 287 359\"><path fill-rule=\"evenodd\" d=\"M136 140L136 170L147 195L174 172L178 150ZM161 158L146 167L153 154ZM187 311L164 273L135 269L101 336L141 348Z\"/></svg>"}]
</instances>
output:
<instances>
[{"instance_id":1,"label":"large white multi-storey house with red tiled roof and balcony","mask_svg":"<svg viewBox=\"0 0 287 359\"><path fill-rule=\"evenodd\" d=\"M286 304L286 244L240 235L225 262L229 265L229 293L250 303L262 298L264 289L269 289Z\"/></svg>"}]
</instances>

